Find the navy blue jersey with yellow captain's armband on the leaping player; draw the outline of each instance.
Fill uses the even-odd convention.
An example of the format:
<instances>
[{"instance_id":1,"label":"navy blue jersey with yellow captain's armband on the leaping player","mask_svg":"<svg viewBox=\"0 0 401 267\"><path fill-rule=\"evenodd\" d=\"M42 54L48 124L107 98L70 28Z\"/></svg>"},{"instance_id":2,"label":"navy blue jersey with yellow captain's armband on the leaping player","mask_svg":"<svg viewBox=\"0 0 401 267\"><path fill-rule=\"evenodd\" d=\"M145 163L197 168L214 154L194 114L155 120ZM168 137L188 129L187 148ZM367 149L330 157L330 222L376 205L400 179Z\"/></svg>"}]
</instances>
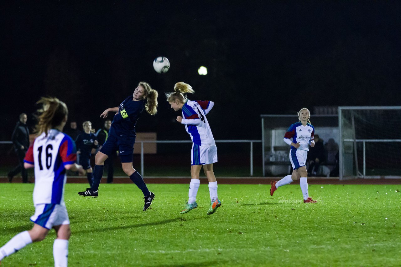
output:
<instances>
[{"instance_id":1,"label":"navy blue jersey with yellow captain's armband on the leaping player","mask_svg":"<svg viewBox=\"0 0 401 267\"><path fill-rule=\"evenodd\" d=\"M113 122L111 122L110 135L118 139L124 138L126 141L135 142L135 124L140 114L144 110L144 99L139 101L132 100L129 96L118 107L118 112L115 113Z\"/></svg>"}]
</instances>

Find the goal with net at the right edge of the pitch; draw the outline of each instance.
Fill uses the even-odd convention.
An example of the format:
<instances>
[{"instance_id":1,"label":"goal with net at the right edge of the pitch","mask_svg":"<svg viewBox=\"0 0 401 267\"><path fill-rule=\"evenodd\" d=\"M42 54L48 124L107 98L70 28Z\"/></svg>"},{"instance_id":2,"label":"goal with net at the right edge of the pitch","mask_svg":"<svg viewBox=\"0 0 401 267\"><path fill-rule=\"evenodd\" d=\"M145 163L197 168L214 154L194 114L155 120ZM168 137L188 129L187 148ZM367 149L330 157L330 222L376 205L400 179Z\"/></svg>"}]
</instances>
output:
<instances>
[{"instance_id":1,"label":"goal with net at the right edge of the pitch","mask_svg":"<svg viewBox=\"0 0 401 267\"><path fill-rule=\"evenodd\" d=\"M339 176L401 177L401 106L340 106Z\"/></svg>"}]
</instances>

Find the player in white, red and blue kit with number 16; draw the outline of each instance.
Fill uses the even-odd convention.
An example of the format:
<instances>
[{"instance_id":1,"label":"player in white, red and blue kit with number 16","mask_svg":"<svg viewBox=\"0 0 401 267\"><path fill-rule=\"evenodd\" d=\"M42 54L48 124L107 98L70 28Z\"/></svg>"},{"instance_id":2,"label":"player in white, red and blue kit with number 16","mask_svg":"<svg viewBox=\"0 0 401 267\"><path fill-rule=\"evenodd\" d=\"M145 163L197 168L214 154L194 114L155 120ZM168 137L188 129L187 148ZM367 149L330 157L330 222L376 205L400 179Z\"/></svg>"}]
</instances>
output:
<instances>
[{"instance_id":1,"label":"player in white, red and blue kit with number 16","mask_svg":"<svg viewBox=\"0 0 401 267\"><path fill-rule=\"evenodd\" d=\"M0 261L32 242L42 241L50 229L55 229L55 266L67 266L71 230L64 203L65 172L71 170L85 174L85 170L74 163L77 158L74 142L62 132L68 115L65 103L57 98L42 98L38 104L43 104L44 110L37 127L39 136L29 147L24 159L24 167L34 167L35 171L35 214L30 217L34 226L14 236L0 248Z\"/></svg>"}]
</instances>

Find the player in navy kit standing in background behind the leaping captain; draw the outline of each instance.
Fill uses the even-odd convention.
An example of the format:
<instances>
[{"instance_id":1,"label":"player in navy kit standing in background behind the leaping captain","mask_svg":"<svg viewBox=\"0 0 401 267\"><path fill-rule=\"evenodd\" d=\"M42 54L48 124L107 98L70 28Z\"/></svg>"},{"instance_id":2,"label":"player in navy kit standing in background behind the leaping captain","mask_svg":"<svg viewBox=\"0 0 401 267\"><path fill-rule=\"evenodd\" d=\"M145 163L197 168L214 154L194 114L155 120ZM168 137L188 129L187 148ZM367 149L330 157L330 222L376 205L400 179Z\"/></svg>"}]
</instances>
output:
<instances>
[{"instance_id":1,"label":"player in navy kit standing in background behind the leaping captain","mask_svg":"<svg viewBox=\"0 0 401 267\"><path fill-rule=\"evenodd\" d=\"M77 154L79 154L79 165L82 165L83 169L86 171L86 177L88 179L89 186L92 186L92 167L91 167L91 156L92 149L97 149L99 147L99 142L97 142L97 137L92 130L92 122L85 121L82 124L83 133L77 136L75 144L77 146Z\"/></svg>"}]
</instances>

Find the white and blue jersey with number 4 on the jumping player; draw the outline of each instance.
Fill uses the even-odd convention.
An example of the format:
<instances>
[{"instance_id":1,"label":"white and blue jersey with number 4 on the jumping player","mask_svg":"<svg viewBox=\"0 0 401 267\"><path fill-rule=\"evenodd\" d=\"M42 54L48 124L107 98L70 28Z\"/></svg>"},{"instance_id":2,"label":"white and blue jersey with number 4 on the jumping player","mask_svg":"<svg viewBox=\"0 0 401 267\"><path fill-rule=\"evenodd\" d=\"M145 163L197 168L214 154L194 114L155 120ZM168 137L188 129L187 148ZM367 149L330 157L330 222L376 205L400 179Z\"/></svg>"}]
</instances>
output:
<instances>
[{"instance_id":1,"label":"white and blue jersey with number 4 on the jumping player","mask_svg":"<svg viewBox=\"0 0 401 267\"><path fill-rule=\"evenodd\" d=\"M212 101L187 100L182 106L182 124L196 145L214 146L212 130L207 121L206 114L213 108Z\"/></svg>"}]
</instances>

